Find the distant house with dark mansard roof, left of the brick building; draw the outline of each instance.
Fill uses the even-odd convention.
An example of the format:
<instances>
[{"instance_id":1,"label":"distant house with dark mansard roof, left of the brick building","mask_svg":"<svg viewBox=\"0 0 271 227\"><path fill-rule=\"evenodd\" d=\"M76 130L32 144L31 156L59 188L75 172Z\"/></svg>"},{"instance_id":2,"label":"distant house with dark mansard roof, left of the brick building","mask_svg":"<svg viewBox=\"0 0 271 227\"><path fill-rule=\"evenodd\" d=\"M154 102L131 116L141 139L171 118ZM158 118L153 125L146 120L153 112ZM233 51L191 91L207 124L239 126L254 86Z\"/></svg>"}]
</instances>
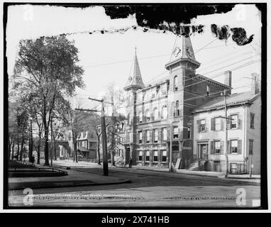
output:
<instances>
[{"instance_id":1,"label":"distant house with dark mansard roof, left of the brick building","mask_svg":"<svg viewBox=\"0 0 271 227\"><path fill-rule=\"evenodd\" d=\"M95 159L96 143L97 138L95 131L84 131L79 133L77 138L77 151L79 151L84 158Z\"/></svg>"}]
</instances>

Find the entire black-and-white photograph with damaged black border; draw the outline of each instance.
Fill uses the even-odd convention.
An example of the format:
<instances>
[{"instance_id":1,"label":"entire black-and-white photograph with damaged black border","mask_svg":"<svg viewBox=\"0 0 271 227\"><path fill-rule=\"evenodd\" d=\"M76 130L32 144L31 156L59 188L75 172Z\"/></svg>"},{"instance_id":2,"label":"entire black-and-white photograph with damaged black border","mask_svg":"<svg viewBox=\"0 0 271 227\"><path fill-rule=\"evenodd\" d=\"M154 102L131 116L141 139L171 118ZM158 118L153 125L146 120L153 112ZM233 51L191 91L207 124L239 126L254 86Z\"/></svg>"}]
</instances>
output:
<instances>
[{"instance_id":1,"label":"entire black-and-white photograph with damaged black border","mask_svg":"<svg viewBox=\"0 0 271 227\"><path fill-rule=\"evenodd\" d=\"M3 9L5 209L267 209L265 2Z\"/></svg>"}]
</instances>

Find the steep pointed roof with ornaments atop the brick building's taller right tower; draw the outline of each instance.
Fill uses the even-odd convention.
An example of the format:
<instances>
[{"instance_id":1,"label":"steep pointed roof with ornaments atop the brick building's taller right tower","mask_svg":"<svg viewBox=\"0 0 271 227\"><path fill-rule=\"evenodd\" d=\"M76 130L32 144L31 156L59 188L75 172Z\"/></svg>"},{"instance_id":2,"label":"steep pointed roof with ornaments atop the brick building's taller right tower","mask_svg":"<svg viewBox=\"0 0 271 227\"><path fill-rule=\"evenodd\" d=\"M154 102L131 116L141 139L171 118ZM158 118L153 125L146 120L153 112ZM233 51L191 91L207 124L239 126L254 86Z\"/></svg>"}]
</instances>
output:
<instances>
[{"instance_id":1,"label":"steep pointed roof with ornaments atop the brick building's taller right tower","mask_svg":"<svg viewBox=\"0 0 271 227\"><path fill-rule=\"evenodd\" d=\"M196 67L199 67L200 63L197 62L194 55L194 50L189 36L182 35L182 44L175 45L172 51L172 57L165 67L168 70L171 65L175 65L177 62L189 61L194 63Z\"/></svg>"}]
</instances>

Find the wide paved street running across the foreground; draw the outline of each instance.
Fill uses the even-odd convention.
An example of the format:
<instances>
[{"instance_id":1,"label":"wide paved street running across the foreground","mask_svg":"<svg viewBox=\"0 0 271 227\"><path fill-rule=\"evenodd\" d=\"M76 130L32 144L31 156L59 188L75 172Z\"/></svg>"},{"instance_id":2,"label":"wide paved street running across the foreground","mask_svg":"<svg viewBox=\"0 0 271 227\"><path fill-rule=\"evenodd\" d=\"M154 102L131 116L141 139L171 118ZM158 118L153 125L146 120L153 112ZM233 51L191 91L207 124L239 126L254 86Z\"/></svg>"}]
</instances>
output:
<instances>
[{"instance_id":1,"label":"wide paved street running across the foreground","mask_svg":"<svg viewBox=\"0 0 271 227\"><path fill-rule=\"evenodd\" d=\"M79 172L102 175L101 167L78 167ZM33 189L33 205L119 207L142 206L182 207L251 207L259 206L260 185L231 181L216 177L185 175L179 173L135 170L134 168L109 168L109 175L131 179L131 183ZM236 190L241 190L245 205L238 205ZM244 189L244 190L243 190ZM240 192L239 192L240 193ZM23 190L9 192L11 206L23 204ZM254 204L254 205L253 205Z\"/></svg>"}]
</instances>

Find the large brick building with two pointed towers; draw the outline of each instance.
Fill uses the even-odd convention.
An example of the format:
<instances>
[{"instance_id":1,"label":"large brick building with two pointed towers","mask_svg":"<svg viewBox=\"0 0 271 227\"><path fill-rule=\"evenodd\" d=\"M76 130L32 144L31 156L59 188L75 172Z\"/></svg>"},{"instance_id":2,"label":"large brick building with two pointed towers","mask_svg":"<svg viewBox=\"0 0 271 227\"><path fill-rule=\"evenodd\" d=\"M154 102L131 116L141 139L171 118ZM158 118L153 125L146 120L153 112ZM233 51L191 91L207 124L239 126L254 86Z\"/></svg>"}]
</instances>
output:
<instances>
[{"instance_id":1,"label":"large brick building with two pointed towers","mask_svg":"<svg viewBox=\"0 0 271 227\"><path fill-rule=\"evenodd\" d=\"M181 158L185 168L193 160L194 119L192 111L220 91L231 92L231 72L225 72L221 84L196 74L197 62L189 37L182 37L182 47L176 47L173 59L167 62L167 78L145 85L137 55L133 62L133 75L124 87L127 93L127 125L125 138L126 160L133 165L158 165L168 167L170 160L170 135L172 162ZM209 96L210 92L213 94Z\"/></svg>"}]
</instances>

